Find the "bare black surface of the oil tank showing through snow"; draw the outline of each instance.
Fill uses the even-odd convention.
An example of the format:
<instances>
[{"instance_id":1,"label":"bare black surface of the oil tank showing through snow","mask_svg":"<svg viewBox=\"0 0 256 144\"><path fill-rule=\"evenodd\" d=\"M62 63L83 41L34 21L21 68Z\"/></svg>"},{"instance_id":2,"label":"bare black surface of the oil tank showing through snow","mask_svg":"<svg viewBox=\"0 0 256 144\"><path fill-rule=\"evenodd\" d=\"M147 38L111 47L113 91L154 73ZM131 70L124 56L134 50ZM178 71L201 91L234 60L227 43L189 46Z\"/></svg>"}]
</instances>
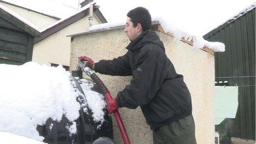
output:
<instances>
[{"instance_id":1,"label":"bare black surface of the oil tank showing through snow","mask_svg":"<svg viewBox=\"0 0 256 144\"><path fill-rule=\"evenodd\" d=\"M83 83L81 79L70 77L72 86L79 90L84 95L81 84ZM98 86L90 79L87 79L87 82L93 84L91 90L101 93ZM58 143L58 144L68 144L68 143L93 143L99 137L109 137L113 139L113 125L111 116L108 114L108 111L104 111L104 122L97 128L101 122L94 122L92 117L92 110L87 105L86 97L79 95L77 97L77 102L81 105L79 110L79 118L75 120L77 134L70 135L70 132L67 130L68 126L72 125L72 122L63 115L62 120L57 122L52 119L47 119L46 124L43 126L38 125L37 130L40 136L45 137L44 142L46 143ZM104 99L105 100L105 99ZM105 100L106 103L106 100ZM87 107L87 113L84 112L83 107Z\"/></svg>"}]
</instances>

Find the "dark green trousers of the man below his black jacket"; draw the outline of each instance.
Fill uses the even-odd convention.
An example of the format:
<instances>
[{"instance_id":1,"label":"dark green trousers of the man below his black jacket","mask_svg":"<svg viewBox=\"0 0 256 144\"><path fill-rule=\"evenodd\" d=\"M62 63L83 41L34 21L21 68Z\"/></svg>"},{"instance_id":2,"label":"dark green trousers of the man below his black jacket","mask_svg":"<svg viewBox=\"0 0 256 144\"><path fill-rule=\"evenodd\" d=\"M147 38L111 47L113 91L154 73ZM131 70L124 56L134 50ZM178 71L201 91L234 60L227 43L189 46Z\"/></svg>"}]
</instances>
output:
<instances>
[{"instance_id":1,"label":"dark green trousers of the man below his black jacket","mask_svg":"<svg viewBox=\"0 0 256 144\"><path fill-rule=\"evenodd\" d=\"M170 124L160 126L153 131L154 144L177 143L177 144L194 144L195 140L195 122L192 115L184 119L174 121Z\"/></svg>"}]
</instances>

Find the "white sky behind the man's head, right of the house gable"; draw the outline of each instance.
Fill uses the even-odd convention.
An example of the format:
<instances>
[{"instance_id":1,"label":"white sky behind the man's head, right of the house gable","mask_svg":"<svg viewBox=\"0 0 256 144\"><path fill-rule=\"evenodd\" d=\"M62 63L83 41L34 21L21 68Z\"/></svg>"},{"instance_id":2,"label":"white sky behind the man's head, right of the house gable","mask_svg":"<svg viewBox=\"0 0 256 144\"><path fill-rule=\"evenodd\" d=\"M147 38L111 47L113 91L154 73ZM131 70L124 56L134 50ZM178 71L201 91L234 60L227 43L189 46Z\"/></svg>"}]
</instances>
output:
<instances>
[{"instance_id":1,"label":"white sky behind the man's head, right of the house gable","mask_svg":"<svg viewBox=\"0 0 256 144\"><path fill-rule=\"evenodd\" d=\"M188 34L202 36L226 22L250 4L255 3L255 0L97 0L96 2L108 22L125 21L129 10L142 6L150 10L152 17L162 17Z\"/></svg>"}]
</instances>

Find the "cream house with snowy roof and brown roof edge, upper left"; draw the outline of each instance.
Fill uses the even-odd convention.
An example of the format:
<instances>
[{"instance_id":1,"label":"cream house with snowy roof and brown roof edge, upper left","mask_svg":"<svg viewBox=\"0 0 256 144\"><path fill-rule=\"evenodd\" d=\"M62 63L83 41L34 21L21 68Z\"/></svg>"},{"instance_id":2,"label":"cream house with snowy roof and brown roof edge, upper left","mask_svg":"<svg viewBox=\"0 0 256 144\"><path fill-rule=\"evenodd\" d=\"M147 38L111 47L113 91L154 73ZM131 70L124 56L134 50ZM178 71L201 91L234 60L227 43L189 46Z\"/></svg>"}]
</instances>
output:
<instances>
[{"instance_id":1,"label":"cream house with snowy roof and brown roof edge, upper left","mask_svg":"<svg viewBox=\"0 0 256 144\"><path fill-rule=\"evenodd\" d=\"M26 0L29 1L29 0ZM99 6L92 7L93 14L89 15L89 2L84 1L77 10L54 1L17 1L0 0L4 6L22 15L39 29L41 38L34 41L32 61L48 66L62 65L68 70L70 65L70 38L66 35L87 30L91 25L105 23L106 19ZM61 13L65 10L65 13ZM90 20L89 24L89 18Z\"/></svg>"}]
</instances>

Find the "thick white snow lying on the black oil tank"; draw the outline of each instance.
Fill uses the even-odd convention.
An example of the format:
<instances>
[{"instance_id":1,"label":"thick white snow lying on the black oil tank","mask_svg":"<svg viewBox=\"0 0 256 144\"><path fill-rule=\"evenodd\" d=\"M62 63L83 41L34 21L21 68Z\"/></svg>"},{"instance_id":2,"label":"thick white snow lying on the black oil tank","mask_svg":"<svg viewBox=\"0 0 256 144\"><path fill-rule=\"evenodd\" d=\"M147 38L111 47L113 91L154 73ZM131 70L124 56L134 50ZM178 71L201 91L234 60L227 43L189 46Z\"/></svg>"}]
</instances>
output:
<instances>
[{"instance_id":1,"label":"thick white snow lying on the black oil tank","mask_svg":"<svg viewBox=\"0 0 256 144\"><path fill-rule=\"evenodd\" d=\"M42 141L44 137L39 136L36 126L44 125L49 118L60 121L64 114L73 123L66 127L67 130L76 134L74 120L78 118L81 108L76 98L81 92L75 92L70 82L71 74L62 66L49 67L27 62L22 66L0 64L0 70L1 132ZM87 87L83 85L83 89L88 90L85 93L93 118L103 121L103 95L90 92L92 90Z\"/></svg>"}]
</instances>

